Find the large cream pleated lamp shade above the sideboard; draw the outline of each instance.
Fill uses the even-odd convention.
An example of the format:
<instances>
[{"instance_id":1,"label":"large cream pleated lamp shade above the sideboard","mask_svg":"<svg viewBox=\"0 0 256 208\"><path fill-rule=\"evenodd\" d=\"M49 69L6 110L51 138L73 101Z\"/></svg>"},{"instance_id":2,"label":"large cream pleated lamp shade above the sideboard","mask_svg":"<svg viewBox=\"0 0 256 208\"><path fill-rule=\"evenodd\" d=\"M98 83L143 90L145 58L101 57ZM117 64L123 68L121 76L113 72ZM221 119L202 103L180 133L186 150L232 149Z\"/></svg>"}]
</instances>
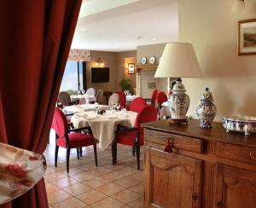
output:
<instances>
[{"instance_id":1,"label":"large cream pleated lamp shade above the sideboard","mask_svg":"<svg viewBox=\"0 0 256 208\"><path fill-rule=\"evenodd\" d=\"M166 43L154 78L200 78L201 69L191 43Z\"/></svg>"}]
</instances>

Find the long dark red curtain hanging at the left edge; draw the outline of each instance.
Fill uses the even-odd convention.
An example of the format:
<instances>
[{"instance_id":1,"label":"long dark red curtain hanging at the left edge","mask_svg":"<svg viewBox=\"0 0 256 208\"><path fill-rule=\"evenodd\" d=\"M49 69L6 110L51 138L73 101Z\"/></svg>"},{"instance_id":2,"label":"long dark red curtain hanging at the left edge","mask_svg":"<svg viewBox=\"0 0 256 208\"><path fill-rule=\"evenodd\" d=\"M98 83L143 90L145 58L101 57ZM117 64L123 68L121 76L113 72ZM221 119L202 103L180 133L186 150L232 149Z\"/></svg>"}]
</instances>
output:
<instances>
[{"instance_id":1,"label":"long dark red curtain hanging at the left edge","mask_svg":"<svg viewBox=\"0 0 256 208\"><path fill-rule=\"evenodd\" d=\"M0 3L0 142L44 153L82 0ZM3 207L48 207L44 179Z\"/></svg>"}]
</instances>

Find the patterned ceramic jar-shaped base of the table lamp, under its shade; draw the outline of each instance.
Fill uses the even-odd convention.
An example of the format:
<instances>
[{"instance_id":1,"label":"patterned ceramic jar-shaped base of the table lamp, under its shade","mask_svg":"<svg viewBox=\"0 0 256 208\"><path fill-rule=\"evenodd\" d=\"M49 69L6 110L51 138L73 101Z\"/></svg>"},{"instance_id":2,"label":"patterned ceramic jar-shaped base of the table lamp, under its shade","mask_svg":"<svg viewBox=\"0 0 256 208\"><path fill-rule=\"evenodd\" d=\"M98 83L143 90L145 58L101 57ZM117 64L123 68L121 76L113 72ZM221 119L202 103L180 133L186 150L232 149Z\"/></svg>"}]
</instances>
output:
<instances>
[{"instance_id":1,"label":"patterned ceramic jar-shaped base of the table lamp, under its shade","mask_svg":"<svg viewBox=\"0 0 256 208\"><path fill-rule=\"evenodd\" d=\"M189 95L185 94L186 91L182 79L177 78L172 95L168 98L172 119L186 119L190 104Z\"/></svg>"}]
</instances>

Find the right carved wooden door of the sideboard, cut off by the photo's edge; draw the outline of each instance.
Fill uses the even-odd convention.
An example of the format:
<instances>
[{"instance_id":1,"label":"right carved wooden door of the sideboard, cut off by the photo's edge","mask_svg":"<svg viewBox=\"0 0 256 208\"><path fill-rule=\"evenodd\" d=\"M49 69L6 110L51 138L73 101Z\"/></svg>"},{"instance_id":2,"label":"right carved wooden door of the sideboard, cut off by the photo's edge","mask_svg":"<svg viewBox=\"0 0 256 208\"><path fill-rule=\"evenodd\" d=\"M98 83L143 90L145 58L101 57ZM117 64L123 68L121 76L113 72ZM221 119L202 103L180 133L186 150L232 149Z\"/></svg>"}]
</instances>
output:
<instances>
[{"instance_id":1,"label":"right carved wooden door of the sideboard, cut off by the photo's edge","mask_svg":"<svg viewBox=\"0 0 256 208\"><path fill-rule=\"evenodd\" d=\"M256 172L218 165L215 207L256 207Z\"/></svg>"}]
</instances>

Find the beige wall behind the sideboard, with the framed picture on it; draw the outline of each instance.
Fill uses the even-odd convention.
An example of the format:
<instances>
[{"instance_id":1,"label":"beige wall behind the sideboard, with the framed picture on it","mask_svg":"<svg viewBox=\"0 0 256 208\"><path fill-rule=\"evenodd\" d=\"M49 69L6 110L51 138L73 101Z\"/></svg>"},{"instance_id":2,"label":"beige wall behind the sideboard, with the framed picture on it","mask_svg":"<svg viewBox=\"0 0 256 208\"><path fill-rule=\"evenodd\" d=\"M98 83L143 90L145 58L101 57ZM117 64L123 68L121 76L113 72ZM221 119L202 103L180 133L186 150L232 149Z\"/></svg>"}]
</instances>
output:
<instances>
[{"instance_id":1,"label":"beige wall behind the sideboard, with the framed picture on it","mask_svg":"<svg viewBox=\"0 0 256 208\"><path fill-rule=\"evenodd\" d=\"M238 56L237 21L255 18L230 13L234 0L179 0L179 40L193 43L204 78L184 78L189 115L209 87L224 115L256 116L256 55Z\"/></svg>"}]
</instances>

